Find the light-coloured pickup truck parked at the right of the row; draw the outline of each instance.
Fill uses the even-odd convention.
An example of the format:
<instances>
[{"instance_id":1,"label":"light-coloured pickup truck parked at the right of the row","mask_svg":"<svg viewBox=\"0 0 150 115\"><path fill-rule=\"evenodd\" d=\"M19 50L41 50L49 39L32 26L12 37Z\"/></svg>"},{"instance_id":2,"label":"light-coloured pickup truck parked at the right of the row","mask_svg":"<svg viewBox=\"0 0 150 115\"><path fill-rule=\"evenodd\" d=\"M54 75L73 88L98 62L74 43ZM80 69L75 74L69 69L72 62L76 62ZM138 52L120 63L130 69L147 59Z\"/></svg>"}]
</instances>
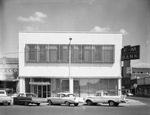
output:
<instances>
[{"instance_id":1,"label":"light-coloured pickup truck parked at the right of the row","mask_svg":"<svg viewBox=\"0 0 150 115\"><path fill-rule=\"evenodd\" d=\"M124 95L111 96L105 91L96 92L95 96L85 97L84 100L87 105L96 105L98 103L108 103L109 106L118 106L120 103L125 103Z\"/></svg>"}]
</instances>

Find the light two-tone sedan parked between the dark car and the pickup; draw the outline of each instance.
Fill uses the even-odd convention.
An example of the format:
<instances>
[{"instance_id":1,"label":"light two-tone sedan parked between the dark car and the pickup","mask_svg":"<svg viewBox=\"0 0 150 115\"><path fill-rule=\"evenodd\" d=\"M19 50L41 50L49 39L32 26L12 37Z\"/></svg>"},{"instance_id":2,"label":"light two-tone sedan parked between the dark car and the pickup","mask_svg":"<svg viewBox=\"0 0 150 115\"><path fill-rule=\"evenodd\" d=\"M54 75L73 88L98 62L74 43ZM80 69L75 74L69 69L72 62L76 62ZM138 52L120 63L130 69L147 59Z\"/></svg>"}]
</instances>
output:
<instances>
[{"instance_id":1,"label":"light two-tone sedan parked between the dark car and the pickup","mask_svg":"<svg viewBox=\"0 0 150 115\"><path fill-rule=\"evenodd\" d=\"M47 102L49 105L61 105L65 104L66 106L70 106L70 104L74 104L74 106L78 106L79 103L83 103L83 98L76 97L72 93L57 93L56 97L48 97Z\"/></svg>"}]
</instances>

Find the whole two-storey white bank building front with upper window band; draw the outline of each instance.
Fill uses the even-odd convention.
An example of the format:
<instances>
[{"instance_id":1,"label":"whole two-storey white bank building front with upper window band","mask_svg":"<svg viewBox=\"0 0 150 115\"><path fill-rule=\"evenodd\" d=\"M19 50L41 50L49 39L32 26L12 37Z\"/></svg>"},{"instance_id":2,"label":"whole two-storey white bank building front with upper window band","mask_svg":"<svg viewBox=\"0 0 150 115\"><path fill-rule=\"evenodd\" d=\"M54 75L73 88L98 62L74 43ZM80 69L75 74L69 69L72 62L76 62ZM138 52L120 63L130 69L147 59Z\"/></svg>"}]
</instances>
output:
<instances>
[{"instance_id":1,"label":"whole two-storey white bank building front with upper window band","mask_svg":"<svg viewBox=\"0 0 150 115\"><path fill-rule=\"evenodd\" d=\"M121 48L121 34L19 33L20 92L120 95Z\"/></svg>"}]
</instances>

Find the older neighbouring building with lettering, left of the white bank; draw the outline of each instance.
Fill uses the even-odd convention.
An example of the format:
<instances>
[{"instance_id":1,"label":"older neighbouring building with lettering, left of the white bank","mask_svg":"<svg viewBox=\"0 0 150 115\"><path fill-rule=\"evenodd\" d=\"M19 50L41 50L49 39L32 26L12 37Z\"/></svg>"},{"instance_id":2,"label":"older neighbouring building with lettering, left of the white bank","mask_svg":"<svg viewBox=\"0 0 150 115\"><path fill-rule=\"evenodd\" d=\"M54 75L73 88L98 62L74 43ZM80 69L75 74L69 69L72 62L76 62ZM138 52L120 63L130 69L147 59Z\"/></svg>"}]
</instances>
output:
<instances>
[{"instance_id":1,"label":"older neighbouring building with lettering, left of the white bank","mask_svg":"<svg viewBox=\"0 0 150 115\"><path fill-rule=\"evenodd\" d=\"M0 89L16 93L18 84L18 58L0 58Z\"/></svg>"}]
</instances>

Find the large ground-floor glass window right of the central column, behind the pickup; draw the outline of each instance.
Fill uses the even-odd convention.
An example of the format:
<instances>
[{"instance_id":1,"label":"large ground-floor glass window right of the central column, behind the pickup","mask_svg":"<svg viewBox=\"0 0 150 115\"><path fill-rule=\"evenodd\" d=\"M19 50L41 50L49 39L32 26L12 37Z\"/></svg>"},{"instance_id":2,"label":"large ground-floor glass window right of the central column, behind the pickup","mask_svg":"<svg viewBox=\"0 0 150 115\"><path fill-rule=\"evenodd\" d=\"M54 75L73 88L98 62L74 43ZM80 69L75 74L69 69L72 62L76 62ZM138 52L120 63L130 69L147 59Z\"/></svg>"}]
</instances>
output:
<instances>
[{"instance_id":1,"label":"large ground-floor glass window right of the central column, behind the pickup","mask_svg":"<svg viewBox=\"0 0 150 115\"><path fill-rule=\"evenodd\" d=\"M118 95L118 79L75 79L74 93L86 97L95 95L97 91L108 92L109 95Z\"/></svg>"}]
</instances>

